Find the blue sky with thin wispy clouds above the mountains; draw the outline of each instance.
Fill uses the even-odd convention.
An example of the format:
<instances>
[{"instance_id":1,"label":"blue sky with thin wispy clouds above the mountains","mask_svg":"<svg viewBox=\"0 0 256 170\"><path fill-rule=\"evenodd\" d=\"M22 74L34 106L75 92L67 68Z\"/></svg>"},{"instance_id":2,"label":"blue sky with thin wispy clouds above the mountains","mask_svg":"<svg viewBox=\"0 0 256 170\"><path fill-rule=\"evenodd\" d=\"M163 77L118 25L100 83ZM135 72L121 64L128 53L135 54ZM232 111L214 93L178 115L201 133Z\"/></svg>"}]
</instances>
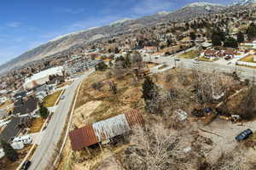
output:
<instances>
[{"instance_id":1,"label":"blue sky with thin wispy clouds above the mountains","mask_svg":"<svg viewBox=\"0 0 256 170\"><path fill-rule=\"evenodd\" d=\"M232 3L236 0L207 0ZM55 37L123 18L181 8L196 0L2 0L0 65Z\"/></svg>"}]
</instances>

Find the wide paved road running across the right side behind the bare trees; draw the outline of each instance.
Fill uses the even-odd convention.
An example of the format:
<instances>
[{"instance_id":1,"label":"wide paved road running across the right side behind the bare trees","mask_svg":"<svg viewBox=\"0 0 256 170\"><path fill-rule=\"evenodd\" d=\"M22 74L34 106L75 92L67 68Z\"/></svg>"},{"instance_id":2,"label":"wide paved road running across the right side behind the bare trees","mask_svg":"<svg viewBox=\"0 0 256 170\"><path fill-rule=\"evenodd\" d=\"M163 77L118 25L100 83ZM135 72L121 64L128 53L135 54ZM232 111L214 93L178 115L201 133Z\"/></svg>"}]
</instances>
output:
<instances>
[{"instance_id":1,"label":"wide paved road running across the right side behind the bare trees","mask_svg":"<svg viewBox=\"0 0 256 170\"><path fill-rule=\"evenodd\" d=\"M238 66L238 65L227 65L226 62L223 64L215 63L215 62L206 62L206 61L200 61L199 64L194 64L195 59L180 59L180 61L175 61L174 59L177 59L177 56L174 57L144 57L144 61L151 61L158 64L166 64L171 66L176 66L179 68L196 68L199 71L204 72L212 72L212 71L218 71L218 72L225 72L225 73L232 73L236 71L239 76L243 79L250 79L253 80L253 77L256 75L256 70L244 66Z\"/></svg>"}]
</instances>

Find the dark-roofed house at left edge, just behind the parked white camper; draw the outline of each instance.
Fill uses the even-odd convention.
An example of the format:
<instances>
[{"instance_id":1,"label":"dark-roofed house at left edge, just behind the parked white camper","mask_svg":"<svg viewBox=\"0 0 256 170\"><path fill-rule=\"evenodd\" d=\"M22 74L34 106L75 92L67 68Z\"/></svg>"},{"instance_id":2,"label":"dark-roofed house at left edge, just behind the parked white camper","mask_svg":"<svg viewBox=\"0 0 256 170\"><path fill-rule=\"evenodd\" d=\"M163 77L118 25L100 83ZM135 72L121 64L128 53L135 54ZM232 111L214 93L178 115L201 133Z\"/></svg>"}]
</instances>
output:
<instances>
[{"instance_id":1,"label":"dark-roofed house at left edge, just behind the parked white camper","mask_svg":"<svg viewBox=\"0 0 256 170\"><path fill-rule=\"evenodd\" d=\"M0 139L10 143L24 128L30 127L31 123L32 119L28 116L14 117L0 133Z\"/></svg>"}]
</instances>

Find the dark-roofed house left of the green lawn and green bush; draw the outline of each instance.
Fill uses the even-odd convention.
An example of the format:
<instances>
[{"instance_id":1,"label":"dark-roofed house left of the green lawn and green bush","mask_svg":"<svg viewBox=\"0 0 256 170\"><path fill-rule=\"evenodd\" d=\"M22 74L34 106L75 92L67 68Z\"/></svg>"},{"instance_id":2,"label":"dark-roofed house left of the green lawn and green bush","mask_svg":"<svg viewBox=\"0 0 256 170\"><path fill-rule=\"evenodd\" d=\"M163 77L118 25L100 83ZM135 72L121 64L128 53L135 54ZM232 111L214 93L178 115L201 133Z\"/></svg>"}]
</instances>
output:
<instances>
[{"instance_id":1,"label":"dark-roofed house left of the green lawn and green bush","mask_svg":"<svg viewBox=\"0 0 256 170\"><path fill-rule=\"evenodd\" d=\"M34 115L38 109L38 100L34 98L20 99L15 101L13 115Z\"/></svg>"}]
</instances>

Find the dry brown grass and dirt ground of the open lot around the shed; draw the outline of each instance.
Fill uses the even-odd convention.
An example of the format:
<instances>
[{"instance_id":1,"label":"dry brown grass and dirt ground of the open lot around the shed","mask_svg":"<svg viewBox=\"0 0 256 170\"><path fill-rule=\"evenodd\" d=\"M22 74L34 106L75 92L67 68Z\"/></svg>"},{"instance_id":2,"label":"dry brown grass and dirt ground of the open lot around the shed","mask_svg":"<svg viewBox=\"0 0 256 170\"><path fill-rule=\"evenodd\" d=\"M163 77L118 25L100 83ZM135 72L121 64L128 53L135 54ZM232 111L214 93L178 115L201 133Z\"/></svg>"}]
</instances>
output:
<instances>
[{"instance_id":1,"label":"dry brown grass and dirt ground of the open lot around the shed","mask_svg":"<svg viewBox=\"0 0 256 170\"><path fill-rule=\"evenodd\" d=\"M79 98L73 118L73 124L76 127L82 127L87 123L98 122L131 109L143 109L144 103L141 98L143 79L139 80L137 84L134 84L131 83L133 82L133 78L130 74L122 79L114 77L108 79L105 73L106 72L96 72L83 82L79 91ZM171 81L166 81L166 75L170 76ZM109 90L108 82L110 80L117 84L118 94L113 95ZM247 127L256 127L256 122L247 122L241 126L240 124L232 124L231 122L220 119L216 119L205 126L201 118L192 116L191 112L195 108L200 108L201 104L196 100L195 92L193 91L193 75L191 71L166 71L154 75L153 80L158 85L160 94L165 94L168 90L172 89L174 92L177 92L178 95L177 99L162 105L162 107L167 106L170 109L165 112L164 116L145 114L144 118L146 122L149 124L163 122L166 127L170 128L170 133L179 133L181 135L183 138L181 147L183 149L190 146L195 156L202 154L207 157L207 162L209 163L214 164L218 162L223 153L229 153L241 145L237 144L234 139L238 133ZM93 82L102 82L102 88L92 88L91 85ZM242 86L236 84L235 87L232 87L234 91L230 94L236 93L236 90L241 88ZM237 98L239 98L239 95ZM234 100L232 100L232 102L234 102ZM217 104L218 103L205 105L205 107L214 107ZM236 103L233 104L236 105ZM173 131L172 123L177 122L177 116L173 114L169 116L168 114L170 114L170 112L173 113L173 111L177 109L186 111L189 118L185 122L180 122L178 126L175 127L179 130ZM209 140L212 142L209 143ZM124 147L125 145L120 145L115 148L115 152L120 153L120 156L122 156L122 151L125 150ZM113 155L112 152L108 150L108 147L103 147L103 152L101 152L99 148L92 151L93 156L89 156L86 150L74 152L71 150L70 141L68 141L58 169L118 169L118 164L112 160ZM250 154L247 154L248 156L254 154L252 151L249 153ZM189 169L195 169L192 166L196 164L195 161L190 161L189 164L191 167L189 167Z\"/></svg>"}]
</instances>

